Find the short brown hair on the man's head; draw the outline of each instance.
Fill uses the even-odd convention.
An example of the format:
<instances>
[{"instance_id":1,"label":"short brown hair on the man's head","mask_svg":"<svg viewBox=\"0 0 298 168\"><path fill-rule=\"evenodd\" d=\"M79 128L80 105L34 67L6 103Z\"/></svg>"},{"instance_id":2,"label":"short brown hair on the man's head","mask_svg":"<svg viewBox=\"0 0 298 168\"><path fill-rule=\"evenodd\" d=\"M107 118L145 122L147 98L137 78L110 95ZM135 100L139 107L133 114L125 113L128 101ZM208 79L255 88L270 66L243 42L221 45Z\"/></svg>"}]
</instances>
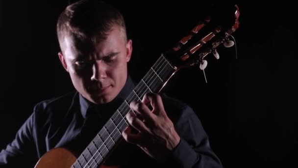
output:
<instances>
[{"instance_id":1,"label":"short brown hair on the man's head","mask_svg":"<svg viewBox=\"0 0 298 168\"><path fill-rule=\"evenodd\" d=\"M65 35L74 35L80 40L104 39L113 26L124 30L124 17L112 5L101 0L78 0L68 5L57 22L57 36L60 45Z\"/></svg>"}]
</instances>

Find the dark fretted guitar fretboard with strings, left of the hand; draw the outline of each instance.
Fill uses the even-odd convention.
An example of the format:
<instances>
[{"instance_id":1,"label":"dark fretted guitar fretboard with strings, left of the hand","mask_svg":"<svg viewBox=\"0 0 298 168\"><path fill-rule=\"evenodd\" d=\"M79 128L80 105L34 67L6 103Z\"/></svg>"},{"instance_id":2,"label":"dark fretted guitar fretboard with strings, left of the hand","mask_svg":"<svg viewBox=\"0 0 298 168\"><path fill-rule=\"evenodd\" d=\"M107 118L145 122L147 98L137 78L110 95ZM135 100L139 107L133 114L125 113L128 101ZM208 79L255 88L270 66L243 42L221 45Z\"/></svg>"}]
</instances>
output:
<instances>
[{"instance_id":1,"label":"dark fretted guitar fretboard with strings, left of the hand","mask_svg":"<svg viewBox=\"0 0 298 168\"><path fill-rule=\"evenodd\" d=\"M84 149L72 168L95 168L101 165L107 154L122 138L122 132L128 126L125 115L131 111L129 104L132 101L142 100L148 92L156 93L166 83L174 70L174 66L163 55L160 56L96 137Z\"/></svg>"}]
</instances>

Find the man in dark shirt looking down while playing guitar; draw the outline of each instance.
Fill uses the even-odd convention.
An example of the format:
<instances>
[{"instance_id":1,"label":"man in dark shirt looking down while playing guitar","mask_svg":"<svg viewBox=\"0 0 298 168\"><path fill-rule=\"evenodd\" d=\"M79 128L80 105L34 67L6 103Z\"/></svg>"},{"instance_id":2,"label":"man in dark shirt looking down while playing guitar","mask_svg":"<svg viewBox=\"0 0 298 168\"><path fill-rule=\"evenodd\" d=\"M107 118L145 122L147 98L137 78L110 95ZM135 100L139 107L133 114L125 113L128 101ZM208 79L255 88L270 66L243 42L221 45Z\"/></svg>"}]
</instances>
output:
<instances>
[{"instance_id":1,"label":"man in dark shirt looking down while playing guitar","mask_svg":"<svg viewBox=\"0 0 298 168\"><path fill-rule=\"evenodd\" d=\"M57 35L58 56L75 91L35 106L15 140L1 151L1 167L34 167L58 147L80 154L134 91L127 74L132 41L115 8L99 0L75 2L60 15ZM222 167L190 107L152 92L140 99L129 103L125 141L110 153L106 165Z\"/></svg>"}]
</instances>

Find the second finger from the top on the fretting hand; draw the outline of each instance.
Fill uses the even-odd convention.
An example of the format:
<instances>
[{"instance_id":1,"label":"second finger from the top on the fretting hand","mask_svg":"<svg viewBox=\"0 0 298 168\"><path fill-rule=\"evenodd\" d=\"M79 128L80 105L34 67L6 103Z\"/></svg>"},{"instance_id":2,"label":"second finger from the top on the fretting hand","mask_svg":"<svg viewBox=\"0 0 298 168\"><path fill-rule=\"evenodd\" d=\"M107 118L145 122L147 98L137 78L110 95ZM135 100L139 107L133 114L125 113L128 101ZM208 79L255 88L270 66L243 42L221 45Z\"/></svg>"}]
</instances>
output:
<instances>
[{"instance_id":1,"label":"second finger from the top on the fretting hand","mask_svg":"<svg viewBox=\"0 0 298 168\"><path fill-rule=\"evenodd\" d=\"M130 108L139 113L146 122L152 123L155 120L155 115L150 111L148 106L142 102L133 101L130 103Z\"/></svg>"}]
</instances>

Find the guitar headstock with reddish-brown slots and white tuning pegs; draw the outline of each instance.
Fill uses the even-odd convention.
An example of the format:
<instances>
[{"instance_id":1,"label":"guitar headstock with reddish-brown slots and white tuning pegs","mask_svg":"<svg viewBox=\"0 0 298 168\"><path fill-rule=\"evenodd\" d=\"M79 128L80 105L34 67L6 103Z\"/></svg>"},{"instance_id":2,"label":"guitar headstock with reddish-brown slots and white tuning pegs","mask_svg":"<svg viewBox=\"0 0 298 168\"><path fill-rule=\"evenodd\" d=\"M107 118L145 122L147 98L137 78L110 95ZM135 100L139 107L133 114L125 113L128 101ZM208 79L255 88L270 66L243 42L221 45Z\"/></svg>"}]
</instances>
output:
<instances>
[{"instance_id":1,"label":"guitar headstock with reddish-brown slots and white tuning pegs","mask_svg":"<svg viewBox=\"0 0 298 168\"><path fill-rule=\"evenodd\" d=\"M217 48L222 44L224 47L232 47L234 42L231 35L239 28L238 6L235 5L233 11L224 12L226 13L209 16L199 22L174 48L164 53L164 56L177 69L199 64L199 68L204 70L207 66L206 56L211 53L219 59ZM228 15L228 12L232 12L232 16Z\"/></svg>"}]
</instances>

